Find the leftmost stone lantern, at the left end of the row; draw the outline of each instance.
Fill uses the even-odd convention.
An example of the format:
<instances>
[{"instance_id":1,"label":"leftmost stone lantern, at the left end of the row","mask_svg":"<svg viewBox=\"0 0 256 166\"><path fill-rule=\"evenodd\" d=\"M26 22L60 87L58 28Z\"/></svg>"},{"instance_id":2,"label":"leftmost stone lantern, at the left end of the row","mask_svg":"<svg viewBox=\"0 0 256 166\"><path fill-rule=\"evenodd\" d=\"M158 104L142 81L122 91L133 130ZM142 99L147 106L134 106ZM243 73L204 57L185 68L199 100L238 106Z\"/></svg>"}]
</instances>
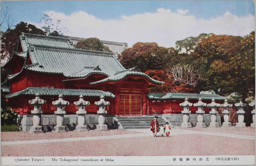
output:
<instances>
[{"instance_id":1,"label":"leftmost stone lantern, at the left end of the row","mask_svg":"<svg viewBox=\"0 0 256 166\"><path fill-rule=\"evenodd\" d=\"M29 100L28 103L34 107L33 110L31 110L31 114L34 114L33 116L33 126L30 128L30 133L42 133L44 132L43 126L41 126L42 117L41 114L43 114L42 105L46 103L45 100L40 99L39 93L36 93L36 99Z\"/></svg>"}]
</instances>

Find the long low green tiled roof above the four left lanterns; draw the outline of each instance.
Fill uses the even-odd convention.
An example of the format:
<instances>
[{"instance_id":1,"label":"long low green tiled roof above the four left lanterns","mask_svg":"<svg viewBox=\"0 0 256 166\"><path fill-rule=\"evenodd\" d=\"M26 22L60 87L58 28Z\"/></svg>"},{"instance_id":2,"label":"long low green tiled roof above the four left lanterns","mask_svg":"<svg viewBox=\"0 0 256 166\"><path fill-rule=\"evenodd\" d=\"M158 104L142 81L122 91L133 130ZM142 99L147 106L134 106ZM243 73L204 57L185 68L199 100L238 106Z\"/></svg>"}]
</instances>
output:
<instances>
[{"instance_id":1,"label":"long low green tiled roof above the four left lanterns","mask_svg":"<svg viewBox=\"0 0 256 166\"><path fill-rule=\"evenodd\" d=\"M115 95L111 92L105 92L100 90L80 90L80 89L54 89L54 88L26 88L24 90L6 95L6 98L13 98L19 95L36 95L39 93L42 96L58 96L63 94L64 96L77 96L83 95L84 97L100 97L103 95L106 98L115 98Z\"/></svg>"}]
</instances>

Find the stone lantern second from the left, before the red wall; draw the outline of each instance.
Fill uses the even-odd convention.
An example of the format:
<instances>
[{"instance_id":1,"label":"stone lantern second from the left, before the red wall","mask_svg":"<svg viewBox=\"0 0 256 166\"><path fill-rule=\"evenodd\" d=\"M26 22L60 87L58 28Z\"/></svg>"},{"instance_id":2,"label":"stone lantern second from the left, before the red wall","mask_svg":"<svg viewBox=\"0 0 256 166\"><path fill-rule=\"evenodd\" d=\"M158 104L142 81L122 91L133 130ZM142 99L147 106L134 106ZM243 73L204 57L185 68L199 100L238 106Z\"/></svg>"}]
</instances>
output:
<instances>
[{"instance_id":1,"label":"stone lantern second from the left, before the red wall","mask_svg":"<svg viewBox=\"0 0 256 166\"><path fill-rule=\"evenodd\" d=\"M56 117L56 126L53 128L53 132L66 132L66 126L64 126L64 115L66 114L65 107L69 105L68 101L63 100L63 95L59 95L59 99L52 101L52 105L57 107L57 111L54 111Z\"/></svg>"}]
</instances>

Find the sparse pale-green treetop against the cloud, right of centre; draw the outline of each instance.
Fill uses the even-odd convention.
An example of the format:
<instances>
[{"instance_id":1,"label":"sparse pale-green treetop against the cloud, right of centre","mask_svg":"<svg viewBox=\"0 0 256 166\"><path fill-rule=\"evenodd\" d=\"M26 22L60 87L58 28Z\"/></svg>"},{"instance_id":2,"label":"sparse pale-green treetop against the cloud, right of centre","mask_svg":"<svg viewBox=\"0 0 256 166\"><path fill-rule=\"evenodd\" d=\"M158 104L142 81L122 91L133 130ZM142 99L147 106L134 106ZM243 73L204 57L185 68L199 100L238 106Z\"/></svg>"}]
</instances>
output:
<instances>
[{"instance_id":1,"label":"sparse pale-green treetop against the cloud, right of centre","mask_svg":"<svg viewBox=\"0 0 256 166\"><path fill-rule=\"evenodd\" d=\"M200 34L199 36L197 37L187 37L186 39L184 40L179 40L177 41L175 44L176 44L176 49L181 51L183 48L186 49L186 53L189 54L191 52L194 51L196 45L203 39L203 38L207 38L207 37L210 37L212 36L213 34Z\"/></svg>"}]
</instances>

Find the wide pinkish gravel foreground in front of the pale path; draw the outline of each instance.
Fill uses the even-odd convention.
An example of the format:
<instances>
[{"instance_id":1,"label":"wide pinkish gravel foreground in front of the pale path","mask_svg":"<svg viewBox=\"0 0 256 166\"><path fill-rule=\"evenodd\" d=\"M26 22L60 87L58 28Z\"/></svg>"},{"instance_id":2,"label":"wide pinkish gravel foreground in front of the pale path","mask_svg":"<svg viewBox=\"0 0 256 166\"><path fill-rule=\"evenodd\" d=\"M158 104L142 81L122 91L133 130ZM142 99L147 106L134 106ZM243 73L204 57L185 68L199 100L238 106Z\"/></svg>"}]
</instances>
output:
<instances>
[{"instance_id":1,"label":"wide pinkish gravel foreground in front of the pale path","mask_svg":"<svg viewBox=\"0 0 256 166\"><path fill-rule=\"evenodd\" d=\"M95 131L94 131L95 132ZM255 140L202 134L2 146L2 156L255 155Z\"/></svg>"}]
</instances>

